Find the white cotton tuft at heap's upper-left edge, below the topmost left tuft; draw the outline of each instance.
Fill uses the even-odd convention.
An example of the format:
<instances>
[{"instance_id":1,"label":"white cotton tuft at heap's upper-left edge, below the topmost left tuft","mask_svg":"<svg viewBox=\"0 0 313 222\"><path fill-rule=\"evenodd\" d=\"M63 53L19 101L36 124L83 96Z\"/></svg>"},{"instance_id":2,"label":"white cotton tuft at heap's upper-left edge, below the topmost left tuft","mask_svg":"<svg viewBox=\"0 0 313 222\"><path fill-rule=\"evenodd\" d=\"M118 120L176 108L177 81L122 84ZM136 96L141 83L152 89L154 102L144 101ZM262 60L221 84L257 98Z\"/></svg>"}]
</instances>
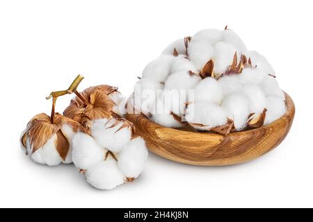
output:
<instances>
[{"instance_id":1,"label":"white cotton tuft at heap's upper-left edge, below the topmost left tuft","mask_svg":"<svg viewBox=\"0 0 313 222\"><path fill-rule=\"evenodd\" d=\"M157 83L165 83L170 75L173 59L174 56L159 56L159 58L150 62L145 69L143 69L143 78L154 80Z\"/></svg>"}]
</instances>

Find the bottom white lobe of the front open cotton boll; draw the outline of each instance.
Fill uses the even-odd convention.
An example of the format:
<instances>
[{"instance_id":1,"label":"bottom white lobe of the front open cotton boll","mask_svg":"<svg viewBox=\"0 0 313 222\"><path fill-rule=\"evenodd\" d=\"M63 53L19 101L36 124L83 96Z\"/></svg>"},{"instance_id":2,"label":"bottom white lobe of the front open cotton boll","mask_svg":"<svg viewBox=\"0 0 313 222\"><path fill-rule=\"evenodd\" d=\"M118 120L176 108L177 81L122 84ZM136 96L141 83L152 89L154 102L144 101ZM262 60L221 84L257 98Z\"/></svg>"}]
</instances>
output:
<instances>
[{"instance_id":1,"label":"bottom white lobe of the front open cotton boll","mask_svg":"<svg viewBox=\"0 0 313 222\"><path fill-rule=\"evenodd\" d=\"M115 160L100 161L86 171L87 182L97 189L113 189L125 182Z\"/></svg>"}]
</instances>

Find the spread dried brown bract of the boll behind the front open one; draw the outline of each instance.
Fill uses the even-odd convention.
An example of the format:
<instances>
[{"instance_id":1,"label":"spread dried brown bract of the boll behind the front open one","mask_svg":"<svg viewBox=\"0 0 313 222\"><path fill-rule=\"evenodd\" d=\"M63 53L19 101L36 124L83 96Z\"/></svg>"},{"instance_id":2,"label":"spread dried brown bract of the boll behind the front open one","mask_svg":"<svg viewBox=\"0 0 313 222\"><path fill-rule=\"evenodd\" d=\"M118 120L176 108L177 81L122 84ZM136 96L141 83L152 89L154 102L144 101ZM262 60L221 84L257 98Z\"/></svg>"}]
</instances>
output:
<instances>
[{"instance_id":1,"label":"spread dried brown bract of the boll behind the front open one","mask_svg":"<svg viewBox=\"0 0 313 222\"><path fill-rule=\"evenodd\" d=\"M80 96L72 99L63 114L81 123L88 130L90 121L94 119L111 119L118 116L113 112L115 103L109 97L109 94L117 90L117 87L109 85L89 87L81 92Z\"/></svg>"}]
</instances>

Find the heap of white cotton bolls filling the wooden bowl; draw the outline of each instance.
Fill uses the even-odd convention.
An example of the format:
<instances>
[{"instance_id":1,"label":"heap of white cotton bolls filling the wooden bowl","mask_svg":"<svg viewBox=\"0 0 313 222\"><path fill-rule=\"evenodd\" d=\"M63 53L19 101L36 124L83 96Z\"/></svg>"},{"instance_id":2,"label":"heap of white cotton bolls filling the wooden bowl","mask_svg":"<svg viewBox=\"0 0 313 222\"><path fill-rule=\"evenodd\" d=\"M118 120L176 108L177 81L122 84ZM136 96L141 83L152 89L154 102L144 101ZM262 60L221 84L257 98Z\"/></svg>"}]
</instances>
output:
<instances>
[{"instance_id":1,"label":"heap of white cotton bolls filling the wooden bowl","mask_svg":"<svg viewBox=\"0 0 313 222\"><path fill-rule=\"evenodd\" d=\"M227 134L282 117L284 93L275 77L234 31L207 29L172 42L150 62L131 104L166 127Z\"/></svg>"}]
</instances>

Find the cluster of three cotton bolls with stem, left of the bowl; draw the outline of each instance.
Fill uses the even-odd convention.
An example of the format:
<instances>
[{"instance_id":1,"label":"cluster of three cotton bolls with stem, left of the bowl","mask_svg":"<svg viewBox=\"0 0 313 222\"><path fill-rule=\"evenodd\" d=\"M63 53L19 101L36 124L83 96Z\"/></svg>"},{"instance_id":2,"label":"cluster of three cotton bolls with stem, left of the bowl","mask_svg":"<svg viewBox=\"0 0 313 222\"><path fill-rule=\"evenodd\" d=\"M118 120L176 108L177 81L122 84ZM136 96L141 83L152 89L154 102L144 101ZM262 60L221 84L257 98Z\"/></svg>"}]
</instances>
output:
<instances>
[{"instance_id":1,"label":"cluster of three cotton bolls with stem, left of the bowl","mask_svg":"<svg viewBox=\"0 0 313 222\"><path fill-rule=\"evenodd\" d=\"M136 137L133 123L122 117L127 100L109 85L79 93L76 88L82 78L78 76L67 90L51 93L51 117L38 114L29 121L21 136L22 149L39 164L74 162L98 189L132 182L143 171L147 148ZM77 97L63 115L54 112L56 99L71 93Z\"/></svg>"}]
</instances>

